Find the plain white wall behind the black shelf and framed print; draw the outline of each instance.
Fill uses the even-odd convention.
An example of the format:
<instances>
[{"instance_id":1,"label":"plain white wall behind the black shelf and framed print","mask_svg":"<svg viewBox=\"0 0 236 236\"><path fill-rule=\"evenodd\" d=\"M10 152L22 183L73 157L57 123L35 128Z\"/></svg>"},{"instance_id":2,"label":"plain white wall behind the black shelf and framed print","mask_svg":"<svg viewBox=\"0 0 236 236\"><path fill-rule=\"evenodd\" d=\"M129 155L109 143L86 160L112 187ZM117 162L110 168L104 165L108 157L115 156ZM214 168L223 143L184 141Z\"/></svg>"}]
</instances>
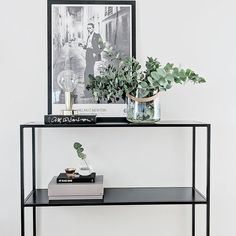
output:
<instances>
[{"instance_id":1,"label":"plain white wall behind the black shelf and framed print","mask_svg":"<svg viewBox=\"0 0 236 236\"><path fill-rule=\"evenodd\" d=\"M235 8L234 0L137 2L137 58L144 62L146 56L156 56L162 63L181 64L207 78L206 84L176 86L163 94L162 119L212 123L214 236L236 235ZM0 235L18 236L19 124L42 120L47 112L46 1L4 1L0 9ZM98 172L105 175L106 186L187 186L191 183L189 138L188 130L179 129L39 132L38 184L46 187L52 175L76 164L71 145L80 140ZM143 166L145 172L150 165L147 176L137 170ZM199 177L204 174L198 172ZM197 235L204 235L204 207L199 208ZM30 210L26 213L30 222ZM190 216L188 206L47 208L38 212L38 231L44 236L67 232L73 236L187 236Z\"/></svg>"}]
</instances>

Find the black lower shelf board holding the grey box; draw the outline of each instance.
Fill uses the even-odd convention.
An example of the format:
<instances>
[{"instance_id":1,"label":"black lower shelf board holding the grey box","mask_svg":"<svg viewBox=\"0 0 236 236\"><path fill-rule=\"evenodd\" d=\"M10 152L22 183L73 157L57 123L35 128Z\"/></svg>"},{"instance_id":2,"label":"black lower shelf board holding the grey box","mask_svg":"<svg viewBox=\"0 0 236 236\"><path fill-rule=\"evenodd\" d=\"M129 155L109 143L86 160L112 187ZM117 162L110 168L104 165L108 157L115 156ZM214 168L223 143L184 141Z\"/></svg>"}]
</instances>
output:
<instances>
[{"instance_id":1,"label":"black lower shelf board holding the grey box","mask_svg":"<svg viewBox=\"0 0 236 236\"><path fill-rule=\"evenodd\" d=\"M105 188L102 200L49 201L47 189L36 189L25 199L25 207L93 205L207 204L206 198L191 187Z\"/></svg>"}]
</instances>

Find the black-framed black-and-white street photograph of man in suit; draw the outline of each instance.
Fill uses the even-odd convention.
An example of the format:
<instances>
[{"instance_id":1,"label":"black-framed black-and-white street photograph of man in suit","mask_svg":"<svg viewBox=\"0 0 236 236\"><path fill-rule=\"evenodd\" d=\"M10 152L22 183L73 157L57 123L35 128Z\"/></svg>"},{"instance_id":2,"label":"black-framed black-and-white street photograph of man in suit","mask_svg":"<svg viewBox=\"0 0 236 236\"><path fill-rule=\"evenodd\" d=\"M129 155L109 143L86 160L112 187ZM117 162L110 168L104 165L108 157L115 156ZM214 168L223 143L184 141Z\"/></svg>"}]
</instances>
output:
<instances>
[{"instance_id":1,"label":"black-framed black-and-white street photograph of man in suit","mask_svg":"<svg viewBox=\"0 0 236 236\"><path fill-rule=\"evenodd\" d=\"M73 109L98 117L125 117L124 100L96 103L86 88L89 74L109 63L111 48L122 57L136 55L135 1L48 1L48 114L65 109L65 89L71 89ZM78 83L63 88L63 73ZM71 87L71 88L70 88Z\"/></svg>"}]
</instances>

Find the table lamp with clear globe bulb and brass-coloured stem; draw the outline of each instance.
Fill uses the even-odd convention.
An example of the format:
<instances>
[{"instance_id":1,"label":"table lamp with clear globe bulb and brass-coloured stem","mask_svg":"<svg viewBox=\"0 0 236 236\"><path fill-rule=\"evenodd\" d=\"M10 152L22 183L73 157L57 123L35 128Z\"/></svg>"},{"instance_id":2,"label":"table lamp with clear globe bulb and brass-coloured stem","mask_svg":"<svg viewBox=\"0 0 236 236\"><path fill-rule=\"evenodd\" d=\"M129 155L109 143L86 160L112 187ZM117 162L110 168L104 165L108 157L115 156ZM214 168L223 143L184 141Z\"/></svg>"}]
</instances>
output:
<instances>
[{"instance_id":1,"label":"table lamp with clear globe bulb and brass-coloured stem","mask_svg":"<svg viewBox=\"0 0 236 236\"><path fill-rule=\"evenodd\" d=\"M76 88L79 80L72 70L63 70L57 76L57 83L65 93L66 110L62 110L63 115L76 115L78 112L72 110L72 92Z\"/></svg>"}]
</instances>

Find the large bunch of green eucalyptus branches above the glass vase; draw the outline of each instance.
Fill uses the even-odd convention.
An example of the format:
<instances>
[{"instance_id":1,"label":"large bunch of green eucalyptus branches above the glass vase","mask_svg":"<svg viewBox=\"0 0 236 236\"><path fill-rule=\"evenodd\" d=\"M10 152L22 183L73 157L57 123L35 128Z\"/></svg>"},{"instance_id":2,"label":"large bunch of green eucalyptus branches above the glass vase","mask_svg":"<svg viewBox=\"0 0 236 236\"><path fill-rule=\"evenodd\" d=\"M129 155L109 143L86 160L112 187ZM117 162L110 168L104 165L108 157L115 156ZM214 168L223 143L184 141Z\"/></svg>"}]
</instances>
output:
<instances>
[{"instance_id":1,"label":"large bunch of green eucalyptus branches above the glass vase","mask_svg":"<svg viewBox=\"0 0 236 236\"><path fill-rule=\"evenodd\" d=\"M146 68L142 71L141 65L135 58L121 59L112 53L109 56L115 57L113 59L116 63L108 64L100 76L89 76L87 89L92 91L98 103L102 99L107 103L125 100L126 94L150 97L170 89L174 84L184 84L189 81L194 84L206 82L190 69L179 69L171 63L161 66L156 58L148 57Z\"/></svg>"}]
</instances>

